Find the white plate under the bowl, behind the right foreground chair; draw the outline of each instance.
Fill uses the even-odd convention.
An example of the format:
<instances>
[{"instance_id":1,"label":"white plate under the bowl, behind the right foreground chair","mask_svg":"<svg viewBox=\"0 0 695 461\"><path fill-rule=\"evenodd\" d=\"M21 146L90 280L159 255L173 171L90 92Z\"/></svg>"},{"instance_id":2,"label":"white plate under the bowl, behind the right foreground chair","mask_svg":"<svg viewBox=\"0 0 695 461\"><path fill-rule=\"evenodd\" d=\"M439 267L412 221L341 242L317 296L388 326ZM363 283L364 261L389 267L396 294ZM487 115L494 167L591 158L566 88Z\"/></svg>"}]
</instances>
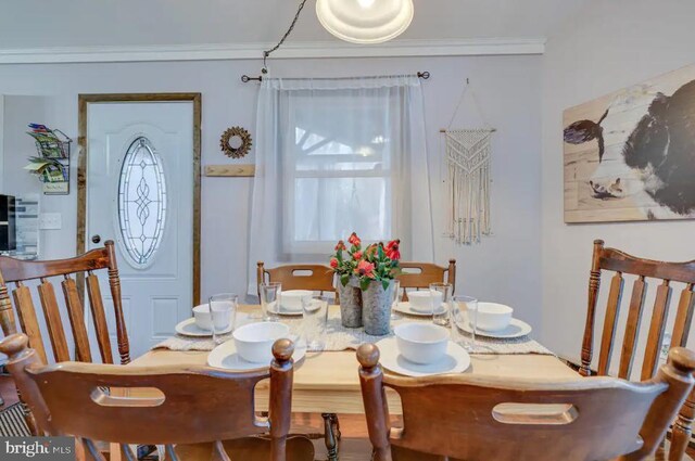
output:
<instances>
[{"instance_id":1,"label":"white plate under the bowl, behind the right foreground chair","mask_svg":"<svg viewBox=\"0 0 695 461\"><path fill-rule=\"evenodd\" d=\"M470 367L470 356L458 344L450 341L446 355L435 363L413 363L399 353L395 337L387 337L377 343L381 353L379 362L383 368L405 376L420 377L435 374L463 373Z\"/></svg>"}]
</instances>

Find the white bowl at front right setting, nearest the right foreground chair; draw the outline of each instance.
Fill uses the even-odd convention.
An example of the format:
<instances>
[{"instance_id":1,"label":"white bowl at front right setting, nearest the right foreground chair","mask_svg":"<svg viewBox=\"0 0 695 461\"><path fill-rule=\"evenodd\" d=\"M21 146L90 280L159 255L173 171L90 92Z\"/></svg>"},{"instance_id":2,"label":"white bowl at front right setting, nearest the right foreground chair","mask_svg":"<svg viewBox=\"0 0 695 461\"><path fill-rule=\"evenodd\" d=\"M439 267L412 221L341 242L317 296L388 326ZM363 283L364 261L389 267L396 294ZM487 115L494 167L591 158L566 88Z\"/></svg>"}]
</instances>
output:
<instances>
[{"instance_id":1,"label":"white bowl at front right setting, nearest the right foreground chair","mask_svg":"<svg viewBox=\"0 0 695 461\"><path fill-rule=\"evenodd\" d=\"M446 354L448 330L432 323L402 323L394 330L399 351L414 363L434 363Z\"/></svg>"}]
</instances>

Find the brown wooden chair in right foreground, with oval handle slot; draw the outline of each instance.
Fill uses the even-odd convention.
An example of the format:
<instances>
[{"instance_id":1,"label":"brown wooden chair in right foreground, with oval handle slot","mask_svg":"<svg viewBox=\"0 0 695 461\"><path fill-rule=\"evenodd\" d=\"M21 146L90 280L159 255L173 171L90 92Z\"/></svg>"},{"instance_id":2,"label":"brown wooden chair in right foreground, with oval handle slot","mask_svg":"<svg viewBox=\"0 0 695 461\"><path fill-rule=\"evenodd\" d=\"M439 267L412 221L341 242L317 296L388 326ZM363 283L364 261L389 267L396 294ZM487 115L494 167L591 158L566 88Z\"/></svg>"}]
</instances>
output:
<instances>
[{"instance_id":1,"label":"brown wooden chair in right foreground, with oval handle slot","mask_svg":"<svg viewBox=\"0 0 695 461\"><path fill-rule=\"evenodd\" d=\"M644 383L401 377L383 374L372 344L359 346L357 360L376 461L644 460L695 382L695 353L685 348ZM401 398L402 427L391 425L386 388Z\"/></svg>"}]
</instances>

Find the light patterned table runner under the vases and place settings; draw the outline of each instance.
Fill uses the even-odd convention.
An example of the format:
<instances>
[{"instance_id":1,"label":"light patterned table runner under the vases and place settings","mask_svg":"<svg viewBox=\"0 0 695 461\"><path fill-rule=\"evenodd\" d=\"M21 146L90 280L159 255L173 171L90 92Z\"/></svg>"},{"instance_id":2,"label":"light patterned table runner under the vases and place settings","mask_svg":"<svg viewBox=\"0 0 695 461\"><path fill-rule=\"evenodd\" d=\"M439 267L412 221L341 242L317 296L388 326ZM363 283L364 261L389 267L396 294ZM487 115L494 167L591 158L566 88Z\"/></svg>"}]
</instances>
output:
<instances>
[{"instance_id":1,"label":"light patterned table runner under the vases and place settings","mask_svg":"<svg viewBox=\"0 0 695 461\"><path fill-rule=\"evenodd\" d=\"M257 321L252 319L245 312L237 315L237 326ZM295 337L305 337L306 324L302 317L282 317L281 321L290 326L291 333ZM392 331L386 336L372 336L365 333L364 329L348 329L340 323L340 309L329 309L326 329L320 333L319 340L324 342L325 351L340 351L345 349L357 349L364 343L377 343L384 337L393 336L393 326L404 322L431 322L431 318L412 317L402 315L399 320L392 320ZM466 333L458 330L457 334L467 337ZM455 335L455 334L454 334ZM225 340L231 340L231 334L225 335ZM210 337L189 337L176 335L163 341L153 347L153 349L170 349L170 350L212 350L215 343ZM311 349L309 349L311 350ZM543 347L536 341L529 336L522 336L515 340L493 340L489 337L478 336L476 348L472 354L541 354L553 355L552 351Z\"/></svg>"}]
</instances>

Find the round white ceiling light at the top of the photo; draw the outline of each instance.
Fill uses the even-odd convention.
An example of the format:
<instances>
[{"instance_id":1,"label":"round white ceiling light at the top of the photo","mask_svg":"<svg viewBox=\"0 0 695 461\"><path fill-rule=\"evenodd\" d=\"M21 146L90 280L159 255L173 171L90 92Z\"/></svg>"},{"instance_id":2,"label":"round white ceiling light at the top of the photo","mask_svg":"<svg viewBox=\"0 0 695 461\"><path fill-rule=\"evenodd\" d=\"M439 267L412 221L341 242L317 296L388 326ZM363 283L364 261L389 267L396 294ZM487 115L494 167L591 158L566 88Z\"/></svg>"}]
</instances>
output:
<instances>
[{"instance_id":1,"label":"round white ceiling light at the top of the photo","mask_svg":"<svg viewBox=\"0 0 695 461\"><path fill-rule=\"evenodd\" d=\"M324 28L353 43L381 43L405 31L413 21L413 0L317 0Z\"/></svg>"}]
</instances>

